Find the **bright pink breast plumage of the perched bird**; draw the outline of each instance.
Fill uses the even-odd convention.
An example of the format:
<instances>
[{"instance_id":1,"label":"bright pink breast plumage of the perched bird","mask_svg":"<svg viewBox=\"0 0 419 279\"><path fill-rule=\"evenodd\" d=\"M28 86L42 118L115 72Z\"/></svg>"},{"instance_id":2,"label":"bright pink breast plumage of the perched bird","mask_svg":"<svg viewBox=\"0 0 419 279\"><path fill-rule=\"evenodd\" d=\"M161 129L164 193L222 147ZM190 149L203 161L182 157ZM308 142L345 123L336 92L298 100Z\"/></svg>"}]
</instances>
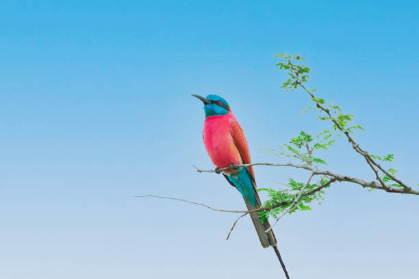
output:
<instances>
[{"instance_id":1,"label":"bright pink breast plumage of the perched bird","mask_svg":"<svg viewBox=\"0 0 419 279\"><path fill-rule=\"evenodd\" d=\"M218 168L231 164L241 164L240 152L231 137L231 123L236 121L233 114L211 116L205 119L203 140L212 163Z\"/></svg>"}]
</instances>

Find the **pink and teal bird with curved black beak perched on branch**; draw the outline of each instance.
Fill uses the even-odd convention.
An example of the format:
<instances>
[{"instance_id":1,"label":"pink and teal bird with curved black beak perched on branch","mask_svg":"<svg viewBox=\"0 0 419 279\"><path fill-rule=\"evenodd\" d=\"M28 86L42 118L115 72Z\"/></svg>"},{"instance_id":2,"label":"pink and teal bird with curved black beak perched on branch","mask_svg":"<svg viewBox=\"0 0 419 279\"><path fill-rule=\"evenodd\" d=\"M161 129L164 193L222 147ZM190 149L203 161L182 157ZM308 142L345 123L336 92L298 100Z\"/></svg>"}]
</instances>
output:
<instances>
[{"instance_id":1,"label":"pink and teal bird with curved black beak perched on branch","mask_svg":"<svg viewBox=\"0 0 419 279\"><path fill-rule=\"evenodd\" d=\"M210 94L206 98L197 94L192 94L192 96L199 98L204 104L203 142L216 170L227 168L230 165L251 164L246 137L244 137L243 129L233 115L229 103L215 94ZM238 189L248 211L262 207L262 202L257 194L255 172L252 166L229 168L222 172L227 182ZM289 278L277 249L277 239L272 230L268 230L269 222L266 220L262 224L258 211L249 214L262 247L272 246L274 248L285 275ZM267 233L266 230L268 230Z\"/></svg>"}]
</instances>

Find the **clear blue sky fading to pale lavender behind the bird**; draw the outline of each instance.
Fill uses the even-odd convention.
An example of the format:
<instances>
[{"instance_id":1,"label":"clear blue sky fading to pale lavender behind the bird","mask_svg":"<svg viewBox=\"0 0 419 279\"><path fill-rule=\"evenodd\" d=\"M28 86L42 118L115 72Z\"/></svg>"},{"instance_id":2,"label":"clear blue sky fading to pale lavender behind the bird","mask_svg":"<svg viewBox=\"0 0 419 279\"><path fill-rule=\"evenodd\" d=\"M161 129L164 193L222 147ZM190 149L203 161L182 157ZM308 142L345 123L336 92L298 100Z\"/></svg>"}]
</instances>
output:
<instances>
[{"instance_id":1,"label":"clear blue sky fading to pale lavender behind the bird","mask_svg":"<svg viewBox=\"0 0 419 279\"><path fill-rule=\"evenodd\" d=\"M0 1L0 278L284 278L202 142L229 101L253 161L327 123L281 93L275 53L366 131L355 139L419 183L417 1ZM322 158L366 180L343 139ZM306 172L255 168L259 187ZM291 278L418 278L419 197L337 183L275 227Z\"/></svg>"}]
</instances>

